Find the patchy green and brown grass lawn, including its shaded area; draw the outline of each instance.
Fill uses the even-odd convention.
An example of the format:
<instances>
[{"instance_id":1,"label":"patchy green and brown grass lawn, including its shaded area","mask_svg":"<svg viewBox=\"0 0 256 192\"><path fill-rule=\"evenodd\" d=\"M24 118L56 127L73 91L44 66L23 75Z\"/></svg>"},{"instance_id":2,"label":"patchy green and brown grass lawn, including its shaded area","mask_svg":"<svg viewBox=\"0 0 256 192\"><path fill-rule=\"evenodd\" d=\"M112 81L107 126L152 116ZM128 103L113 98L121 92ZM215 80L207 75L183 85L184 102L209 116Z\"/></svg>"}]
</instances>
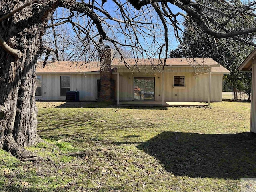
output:
<instances>
[{"instance_id":1,"label":"patchy green and brown grass lawn, including its shaded area","mask_svg":"<svg viewBox=\"0 0 256 192\"><path fill-rule=\"evenodd\" d=\"M44 162L0 150L0 191L239 191L256 178L250 103L203 108L129 108L97 102L37 102L28 147ZM81 157L63 153L108 152Z\"/></svg>"}]
</instances>

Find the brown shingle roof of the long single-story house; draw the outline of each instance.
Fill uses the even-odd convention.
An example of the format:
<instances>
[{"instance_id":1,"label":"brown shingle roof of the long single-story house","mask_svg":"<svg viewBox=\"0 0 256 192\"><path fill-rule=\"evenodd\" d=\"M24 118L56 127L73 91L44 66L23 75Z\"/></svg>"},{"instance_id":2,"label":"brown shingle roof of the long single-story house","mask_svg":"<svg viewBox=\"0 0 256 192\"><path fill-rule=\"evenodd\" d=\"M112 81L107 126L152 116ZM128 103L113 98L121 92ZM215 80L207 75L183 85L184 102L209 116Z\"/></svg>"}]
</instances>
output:
<instances>
[{"instance_id":1,"label":"brown shingle roof of the long single-story house","mask_svg":"<svg viewBox=\"0 0 256 192\"><path fill-rule=\"evenodd\" d=\"M128 59L126 62L130 66L154 66L161 64L159 59ZM56 61L47 62L43 68L43 62L38 62L36 71L38 73L99 73L100 63L95 62L72 62L72 61ZM168 58L166 65L172 67L190 67L195 66L208 66L212 68L213 73L229 73L230 71L218 64L211 58ZM112 67L126 67L124 62L120 62L120 59L112 60Z\"/></svg>"}]
</instances>

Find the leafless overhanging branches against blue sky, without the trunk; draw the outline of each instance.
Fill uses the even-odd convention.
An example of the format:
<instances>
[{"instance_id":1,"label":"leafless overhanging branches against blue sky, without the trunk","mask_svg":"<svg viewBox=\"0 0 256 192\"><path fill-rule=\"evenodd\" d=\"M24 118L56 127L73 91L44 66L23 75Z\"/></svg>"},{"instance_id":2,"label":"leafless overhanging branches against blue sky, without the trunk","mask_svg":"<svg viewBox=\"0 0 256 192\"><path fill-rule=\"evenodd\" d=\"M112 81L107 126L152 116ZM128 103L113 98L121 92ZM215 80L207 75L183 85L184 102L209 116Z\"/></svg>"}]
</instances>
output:
<instances>
[{"instance_id":1,"label":"leafless overhanging branches against blue sky, without the trunk","mask_svg":"<svg viewBox=\"0 0 256 192\"><path fill-rule=\"evenodd\" d=\"M72 60L98 60L96 54L108 45L116 49L124 63L125 56L120 51L123 48L133 58L165 58L165 65L173 36L182 44L184 20L194 22L203 36L214 37L210 42L215 45L219 39L231 37L256 46L253 38L245 37L256 32L256 1L242 4L229 0L61 0L58 6L66 11L63 16L56 14L48 26L48 36L52 34L49 46L57 50L68 44L58 51ZM177 12L174 6L181 10ZM63 34L68 30L66 38ZM190 56L190 50L186 52Z\"/></svg>"}]
</instances>

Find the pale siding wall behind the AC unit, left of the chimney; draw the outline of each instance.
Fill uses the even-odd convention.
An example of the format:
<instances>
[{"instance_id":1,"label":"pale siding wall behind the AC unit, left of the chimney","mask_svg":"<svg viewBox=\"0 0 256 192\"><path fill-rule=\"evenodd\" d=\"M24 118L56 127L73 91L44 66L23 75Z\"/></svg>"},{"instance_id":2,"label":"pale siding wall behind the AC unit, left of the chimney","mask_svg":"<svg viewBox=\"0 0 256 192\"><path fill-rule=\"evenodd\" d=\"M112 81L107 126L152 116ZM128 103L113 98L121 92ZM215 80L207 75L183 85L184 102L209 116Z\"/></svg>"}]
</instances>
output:
<instances>
[{"instance_id":1,"label":"pale siding wall behind the AC unit, left of the chimney","mask_svg":"<svg viewBox=\"0 0 256 192\"><path fill-rule=\"evenodd\" d=\"M70 90L79 91L80 100L97 100L97 79L100 74L37 74L42 76L40 100L66 100L60 96L60 76L70 75Z\"/></svg>"}]
</instances>

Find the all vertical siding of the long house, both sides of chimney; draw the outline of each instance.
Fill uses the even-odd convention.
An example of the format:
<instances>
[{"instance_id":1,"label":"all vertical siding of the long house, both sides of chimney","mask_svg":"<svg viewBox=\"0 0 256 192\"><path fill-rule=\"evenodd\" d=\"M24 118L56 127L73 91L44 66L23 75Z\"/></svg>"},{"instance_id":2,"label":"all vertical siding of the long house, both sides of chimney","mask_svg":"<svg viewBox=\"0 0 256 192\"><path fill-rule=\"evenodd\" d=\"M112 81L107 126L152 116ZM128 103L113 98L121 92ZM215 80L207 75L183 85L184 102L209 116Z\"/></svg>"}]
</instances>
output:
<instances>
[{"instance_id":1,"label":"all vertical siding of the long house, both sides of chimney","mask_svg":"<svg viewBox=\"0 0 256 192\"><path fill-rule=\"evenodd\" d=\"M182 68L180 68L182 69ZM178 68L177 68L178 70ZM80 100L97 100L97 79L100 74L38 74L42 76L41 100L66 100L60 97L60 76L71 76L72 91L80 92ZM173 88L174 75L185 76L185 88ZM120 73L120 101L133 100L134 77L155 77L155 100L162 100L162 74L154 73ZM113 78L116 80L116 74ZM211 101L222 101L223 74L212 74ZM116 80L117 99L117 80ZM165 72L164 101L208 101L208 74L194 76L194 72Z\"/></svg>"}]
</instances>

